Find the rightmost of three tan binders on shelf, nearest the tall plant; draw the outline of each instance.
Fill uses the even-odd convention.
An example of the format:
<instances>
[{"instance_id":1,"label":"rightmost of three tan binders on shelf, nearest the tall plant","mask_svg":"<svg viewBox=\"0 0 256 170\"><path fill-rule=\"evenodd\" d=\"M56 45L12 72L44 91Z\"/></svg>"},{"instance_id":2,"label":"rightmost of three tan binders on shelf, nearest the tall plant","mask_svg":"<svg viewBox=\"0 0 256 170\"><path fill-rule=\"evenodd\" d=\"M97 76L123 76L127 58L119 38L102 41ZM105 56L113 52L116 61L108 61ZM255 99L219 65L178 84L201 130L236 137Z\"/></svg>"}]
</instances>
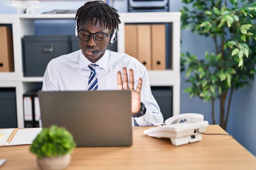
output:
<instances>
[{"instance_id":1,"label":"rightmost of three tan binders on shelf, nearest the tall plant","mask_svg":"<svg viewBox=\"0 0 256 170\"><path fill-rule=\"evenodd\" d=\"M151 25L152 70L166 70L166 28L165 25Z\"/></svg>"}]
</instances>

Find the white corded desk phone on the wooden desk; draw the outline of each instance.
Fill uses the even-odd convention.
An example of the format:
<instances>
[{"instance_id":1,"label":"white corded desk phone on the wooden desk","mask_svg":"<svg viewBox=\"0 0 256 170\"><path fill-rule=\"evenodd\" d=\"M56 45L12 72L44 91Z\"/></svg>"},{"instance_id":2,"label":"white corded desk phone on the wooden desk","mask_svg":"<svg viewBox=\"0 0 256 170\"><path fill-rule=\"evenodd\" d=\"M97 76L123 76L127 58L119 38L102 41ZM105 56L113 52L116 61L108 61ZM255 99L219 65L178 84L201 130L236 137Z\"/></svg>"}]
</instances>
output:
<instances>
[{"instance_id":1,"label":"white corded desk phone on the wooden desk","mask_svg":"<svg viewBox=\"0 0 256 170\"><path fill-rule=\"evenodd\" d=\"M185 122L179 123L180 120ZM202 140L201 133L208 127L204 115L198 113L183 113L166 119L165 123L155 123L154 126L144 130L144 134L156 138L170 138L175 146L198 142Z\"/></svg>"}]
</instances>

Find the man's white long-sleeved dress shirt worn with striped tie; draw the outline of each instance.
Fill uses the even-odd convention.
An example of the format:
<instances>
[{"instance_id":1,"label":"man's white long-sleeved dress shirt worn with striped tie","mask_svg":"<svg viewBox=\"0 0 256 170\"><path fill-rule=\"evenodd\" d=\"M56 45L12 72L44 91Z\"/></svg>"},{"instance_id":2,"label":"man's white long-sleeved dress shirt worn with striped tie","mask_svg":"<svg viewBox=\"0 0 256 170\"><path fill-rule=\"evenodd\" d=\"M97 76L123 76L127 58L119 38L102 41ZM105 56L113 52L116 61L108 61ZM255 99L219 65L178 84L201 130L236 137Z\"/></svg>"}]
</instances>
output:
<instances>
[{"instance_id":1,"label":"man's white long-sleeved dress shirt worn with striped tie","mask_svg":"<svg viewBox=\"0 0 256 170\"><path fill-rule=\"evenodd\" d=\"M52 59L44 74L42 91L87 91L90 64L92 62L84 57L81 50ZM139 78L143 79L140 94L141 102L146 107L145 115L134 119L139 126L151 126L155 122L163 123L163 115L151 93L148 72L143 64L128 54L109 50L105 51L95 64L99 65L96 67L98 90L118 90L117 72L122 73L122 69L126 67L129 81L129 70L132 68L135 90Z\"/></svg>"}]
</instances>

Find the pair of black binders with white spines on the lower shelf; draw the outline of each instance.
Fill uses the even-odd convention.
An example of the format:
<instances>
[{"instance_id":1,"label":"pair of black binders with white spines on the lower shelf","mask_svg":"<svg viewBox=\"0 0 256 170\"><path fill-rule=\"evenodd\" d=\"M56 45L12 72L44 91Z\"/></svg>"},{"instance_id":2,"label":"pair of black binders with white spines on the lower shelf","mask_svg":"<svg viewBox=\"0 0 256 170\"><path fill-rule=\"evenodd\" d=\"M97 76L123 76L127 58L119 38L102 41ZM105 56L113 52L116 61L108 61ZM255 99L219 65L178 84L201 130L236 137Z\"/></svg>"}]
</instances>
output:
<instances>
[{"instance_id":1,"label":"pair of black binders with white spines on the lower shelf","mask_svg":"<svg viewBox=\"0 0 256 170\"><path fill-rule=\"evenodd\" d=\"M24 127L39 127L40 105L38 91L34 89L23 94Z\"/></svg>"}]
</instances>

